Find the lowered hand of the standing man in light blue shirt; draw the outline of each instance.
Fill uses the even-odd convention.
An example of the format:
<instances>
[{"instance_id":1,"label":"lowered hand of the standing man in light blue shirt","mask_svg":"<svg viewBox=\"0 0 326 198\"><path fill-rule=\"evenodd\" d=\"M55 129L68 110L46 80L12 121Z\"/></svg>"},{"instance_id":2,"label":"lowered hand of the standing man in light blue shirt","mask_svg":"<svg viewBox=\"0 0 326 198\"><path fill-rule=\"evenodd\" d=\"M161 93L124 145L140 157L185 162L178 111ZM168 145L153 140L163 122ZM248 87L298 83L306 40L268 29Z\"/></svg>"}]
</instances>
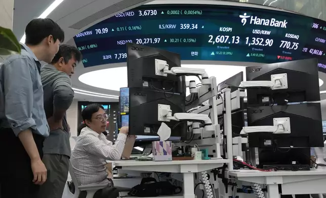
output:
<instances>
[{"instance_id":1,"label":"lowered hand of the standing man in light blue shirt","mask_svg":"<svg viewBox=\"0 0 326 198\"><path fill-rule=\"evenodd\" d=\"M42 185L47 180L47 168L40 158L30 161L34 184Z\"/></svg>"}]
</instances>

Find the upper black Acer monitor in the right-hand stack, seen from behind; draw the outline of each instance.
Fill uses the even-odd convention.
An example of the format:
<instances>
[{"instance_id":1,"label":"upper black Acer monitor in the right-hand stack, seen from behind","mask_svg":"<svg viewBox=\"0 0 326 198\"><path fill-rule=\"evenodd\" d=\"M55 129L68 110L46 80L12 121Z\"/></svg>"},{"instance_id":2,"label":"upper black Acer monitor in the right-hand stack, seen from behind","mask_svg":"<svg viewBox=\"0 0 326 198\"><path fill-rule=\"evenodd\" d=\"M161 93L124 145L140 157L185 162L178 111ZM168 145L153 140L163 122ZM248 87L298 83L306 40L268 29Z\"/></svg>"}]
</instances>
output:
<instances>
[{"instance_id":1,"label":"upper black Acer monitor in the right-hand stack, seen from behind","mask_svg":"<svg viewBox=\"0 0 326 198\"><path fill-rule=\"evenodd\" d=\"M282 73L287 74L287 89L248 88L248 106L320 101L317 59L246 68L247 81L271 81L271 75Z\"/></svg>"}]
</instances>

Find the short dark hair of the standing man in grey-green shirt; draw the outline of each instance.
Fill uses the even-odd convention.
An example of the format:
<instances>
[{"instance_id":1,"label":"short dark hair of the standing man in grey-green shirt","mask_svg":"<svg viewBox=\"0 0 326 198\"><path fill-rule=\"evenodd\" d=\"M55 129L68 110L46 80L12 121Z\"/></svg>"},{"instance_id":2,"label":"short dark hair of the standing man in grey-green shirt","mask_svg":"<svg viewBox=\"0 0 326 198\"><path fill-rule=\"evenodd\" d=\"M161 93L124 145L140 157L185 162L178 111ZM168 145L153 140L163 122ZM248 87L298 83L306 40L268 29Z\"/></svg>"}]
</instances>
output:
<instances>
[{"instance_id":1,"label":"short dark hair of the standing man in grey-green shirt","mask_svg":"<svg viewBox=\"0 0 326 198\"><path fill-rule=\"evenodd\" d=\"M51 64L58 63L60 58L63 58L65 63L68 63L70 59L75 58L77 62L81 61L81 53L77 47L70 44L61 44L56 56L52 59Z\"/></svg>"}]
</instances>

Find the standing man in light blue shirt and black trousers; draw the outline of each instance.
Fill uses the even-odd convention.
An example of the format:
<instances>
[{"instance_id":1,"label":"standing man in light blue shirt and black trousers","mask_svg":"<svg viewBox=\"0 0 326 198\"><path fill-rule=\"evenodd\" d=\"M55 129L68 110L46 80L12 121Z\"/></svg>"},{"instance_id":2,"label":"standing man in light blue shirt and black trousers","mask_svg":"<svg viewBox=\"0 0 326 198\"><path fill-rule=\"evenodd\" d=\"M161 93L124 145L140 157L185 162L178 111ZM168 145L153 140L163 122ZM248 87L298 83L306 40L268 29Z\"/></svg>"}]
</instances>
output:
<instances>
[{"instance_id":1,"label":"standing man in light blue shirt and black trousers","mask_svg":"<svg viewBox=\"0 0 326 198\"><path fill-rule=\"evenodd\" d=\"M64 40L51 19L33 19L20 55L0 66L1 198L34 198L47 180L42 162L49 126L43 106L40 61L50 63Z\"/></svg>"}]
</instances>

